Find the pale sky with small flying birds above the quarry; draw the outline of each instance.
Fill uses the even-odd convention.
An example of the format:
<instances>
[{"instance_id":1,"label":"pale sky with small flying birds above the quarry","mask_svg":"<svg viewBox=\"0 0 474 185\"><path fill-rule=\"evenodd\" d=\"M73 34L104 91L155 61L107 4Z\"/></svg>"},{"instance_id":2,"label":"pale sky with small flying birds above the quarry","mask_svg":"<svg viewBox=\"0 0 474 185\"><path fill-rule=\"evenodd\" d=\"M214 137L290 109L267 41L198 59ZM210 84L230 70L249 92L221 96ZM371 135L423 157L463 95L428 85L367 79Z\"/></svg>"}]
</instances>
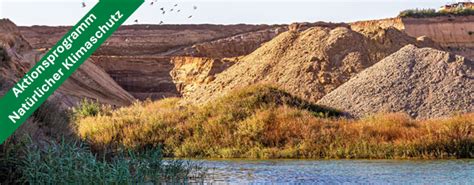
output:
<instances>
[{"instance_id":1,"label":"pale sky with small flying birds above the quarry","mask_svg":"<svg viewBox=\"0 0 474 185\"><path fill-rule=\"evenodd\" d=\"M453 0L145 0L125 24L288 24L395 17L402 10L439 8ZM82 2L87 5L82 7ZM0 18L17 25L74 25L98 0L0 0ZM178 4L177 7L174 7ZM197 9L194 9L194 6ZM166 13L163 15L160 8ZM173 12L170 12L171 9ZM177 12L180 10L180 12ZM189 18L189 16L192 16Z\"/></svg>"}]
</instances>

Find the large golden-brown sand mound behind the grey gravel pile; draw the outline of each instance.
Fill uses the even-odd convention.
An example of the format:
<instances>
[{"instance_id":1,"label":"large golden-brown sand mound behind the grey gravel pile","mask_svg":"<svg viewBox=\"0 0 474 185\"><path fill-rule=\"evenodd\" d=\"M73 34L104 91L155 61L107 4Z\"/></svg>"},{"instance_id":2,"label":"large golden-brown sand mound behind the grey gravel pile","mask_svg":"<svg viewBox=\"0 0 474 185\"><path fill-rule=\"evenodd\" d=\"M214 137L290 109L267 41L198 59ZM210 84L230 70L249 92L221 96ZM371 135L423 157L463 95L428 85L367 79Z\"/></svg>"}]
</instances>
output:
<instances>
[{"instance_id":1,"label":"large golden-brown sand mound behind the grey gravel pile","mask_svg":"<svg viewBox=\"0 0 474 185\"><path fill-rule=\"evenodd\" d=\"M316 102L353 75L372 66L415 38L394 29L359 33L347 27L290 29L264 44L186 99L206 102L235 88L269 83Z\"/></svg>"}]
</instances>

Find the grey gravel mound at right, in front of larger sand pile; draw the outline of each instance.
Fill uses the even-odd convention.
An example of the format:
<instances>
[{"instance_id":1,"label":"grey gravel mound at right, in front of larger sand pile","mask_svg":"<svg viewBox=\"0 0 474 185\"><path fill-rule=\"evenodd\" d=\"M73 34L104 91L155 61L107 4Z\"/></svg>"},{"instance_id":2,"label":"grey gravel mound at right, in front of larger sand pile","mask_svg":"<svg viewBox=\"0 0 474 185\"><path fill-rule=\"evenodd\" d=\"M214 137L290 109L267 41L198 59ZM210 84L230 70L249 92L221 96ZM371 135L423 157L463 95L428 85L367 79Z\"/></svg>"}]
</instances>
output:
<instances>
[{"instance_id":1,"label":"grey gravel mound at right, in front of larger sand pile","mask_svg":"<svg viewBox=\"0 0 474 185\"><path fill-rule=\"evenodd\" d=\"M474 63L409 45L361 72L318 104L353 116L406 112L425 119L474 111Z\"/></svg>"}]
</instances>

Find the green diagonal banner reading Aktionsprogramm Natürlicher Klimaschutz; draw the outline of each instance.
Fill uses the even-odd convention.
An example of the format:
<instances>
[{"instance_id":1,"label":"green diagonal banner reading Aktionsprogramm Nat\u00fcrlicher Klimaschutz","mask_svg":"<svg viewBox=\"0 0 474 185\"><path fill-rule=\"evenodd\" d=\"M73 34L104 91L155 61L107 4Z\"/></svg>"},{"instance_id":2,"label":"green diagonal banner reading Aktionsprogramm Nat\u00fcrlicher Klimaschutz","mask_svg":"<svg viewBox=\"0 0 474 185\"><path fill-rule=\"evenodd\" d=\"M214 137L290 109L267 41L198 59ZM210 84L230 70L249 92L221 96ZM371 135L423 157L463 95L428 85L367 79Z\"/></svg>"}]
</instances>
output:
<instances>
[{"instance_id":1,"label":"green diagonal banner reading Aktionsprogramm Nat\u00fcrlicher Klimaschutz","mask_svg":"<svg viewBox=\"0 0 474 185\"><path fill-rule=\"evenodd\" d=\"M143 3L144 0L100 0L0 99L0 143L10 137Z\"/></svg>"}]
</instances>

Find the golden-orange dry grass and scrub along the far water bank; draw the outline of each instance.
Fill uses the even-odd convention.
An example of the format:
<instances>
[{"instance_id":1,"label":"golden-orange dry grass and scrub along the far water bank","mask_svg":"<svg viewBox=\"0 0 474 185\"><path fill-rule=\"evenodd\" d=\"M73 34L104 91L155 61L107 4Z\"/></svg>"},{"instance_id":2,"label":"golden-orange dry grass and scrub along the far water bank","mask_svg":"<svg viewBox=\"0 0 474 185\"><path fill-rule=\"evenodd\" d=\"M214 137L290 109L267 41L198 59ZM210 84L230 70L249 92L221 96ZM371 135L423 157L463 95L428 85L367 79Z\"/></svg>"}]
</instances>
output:
<instances>
[{"instance_id":1,"label":"golden-orange dry grass and scrub along the far water bank","mask_svg":"<svg viewBox=\"0 0 474 185\"><path fill-rule=\"evenodd\" d=\"M414 121L403 114L335 117L271 87L257 86L203 106L178 99L141 102L77 121L98 152L163 147L174 157L471 158L474 114Z\"/></svg>"}]
</instances>

